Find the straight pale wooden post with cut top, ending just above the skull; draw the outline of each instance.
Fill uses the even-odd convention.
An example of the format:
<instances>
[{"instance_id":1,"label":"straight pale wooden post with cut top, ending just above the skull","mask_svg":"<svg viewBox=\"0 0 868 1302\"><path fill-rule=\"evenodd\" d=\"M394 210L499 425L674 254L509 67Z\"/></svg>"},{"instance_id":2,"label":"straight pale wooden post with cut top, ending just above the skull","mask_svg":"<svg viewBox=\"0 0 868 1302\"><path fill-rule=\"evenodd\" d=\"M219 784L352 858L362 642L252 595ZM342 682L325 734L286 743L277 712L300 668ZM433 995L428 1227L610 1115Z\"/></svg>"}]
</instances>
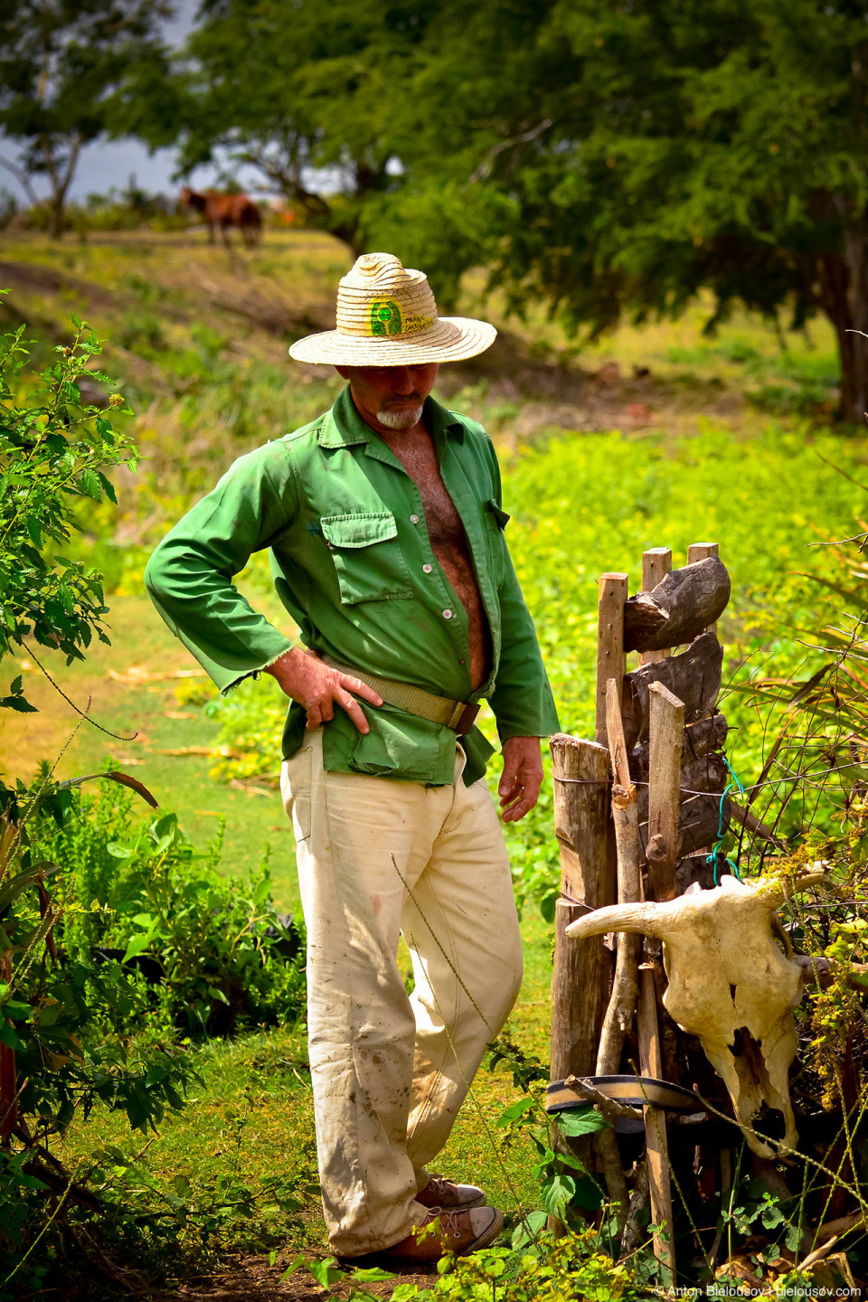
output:
<instances>
[{"instance_id":1,"label":"straight pale wooden post with cut top, ending just above the skull","mask_svg":"<svg viewBox=\"0 0 868 1302\"><path fill-rule=\"evenodd\" d=\"M662 682L652 682L648 690L651 694L648 870L653 898L674 900L685 703L673 697Z\"/></svg>"}]
</instances>

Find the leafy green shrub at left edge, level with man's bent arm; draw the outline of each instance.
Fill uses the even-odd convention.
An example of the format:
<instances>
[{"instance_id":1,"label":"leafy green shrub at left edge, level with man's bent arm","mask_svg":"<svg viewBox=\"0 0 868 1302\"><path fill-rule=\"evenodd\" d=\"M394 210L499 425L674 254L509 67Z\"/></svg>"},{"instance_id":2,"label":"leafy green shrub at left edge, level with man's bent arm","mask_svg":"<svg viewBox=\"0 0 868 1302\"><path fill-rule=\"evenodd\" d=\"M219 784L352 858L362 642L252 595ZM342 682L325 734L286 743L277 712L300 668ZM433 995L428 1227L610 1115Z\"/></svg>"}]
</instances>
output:
<instances>
[{"instance_id":1,"label":"leafy green shrub at left edge, level with man's bent arm","mask_svg":"<svg viewBox=\"0 0 868 1302\"><path fill-rule=\"evenodd\" d=\"M23 327L0 337L0 658L31 637L62 651L69 664L83 659L94 633L103 631L107 607L100 575L79 560L59 555L78 527L82 501L115 501L104 470L135 465L131 441L112 421L83 402L75 380L100 353L96 336L78 318L66 348L40 374L27 372ZM113 393L109 408L131 414ZM13 680L0 707L30 711L22 680Z\"/></svg>"}]
</instances>

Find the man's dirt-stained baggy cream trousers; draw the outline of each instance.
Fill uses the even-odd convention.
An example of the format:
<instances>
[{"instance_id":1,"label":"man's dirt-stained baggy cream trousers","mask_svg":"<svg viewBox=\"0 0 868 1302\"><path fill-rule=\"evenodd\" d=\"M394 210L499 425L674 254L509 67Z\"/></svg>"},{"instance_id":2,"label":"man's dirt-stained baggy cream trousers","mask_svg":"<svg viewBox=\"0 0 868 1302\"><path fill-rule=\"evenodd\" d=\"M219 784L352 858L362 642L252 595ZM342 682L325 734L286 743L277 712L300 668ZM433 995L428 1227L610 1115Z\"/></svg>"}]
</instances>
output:
<instances>
[{"instance_id":1,"label":"man's dirt-stained baggy cream trousers","mask_svg":"<svg viewBox=\"0 0 868 1302\"><path fill-rule=\"evenodd\" d=\"M307 924L307 1019L332 1250L397 1243L485 1046L522 983L515 902L484 780L424 786L323 771L321 730L284 764ZM407 996L398 935L413 957ZM475 1172L461 1172L463 1178Z\"/></svg>"}]
</instances>

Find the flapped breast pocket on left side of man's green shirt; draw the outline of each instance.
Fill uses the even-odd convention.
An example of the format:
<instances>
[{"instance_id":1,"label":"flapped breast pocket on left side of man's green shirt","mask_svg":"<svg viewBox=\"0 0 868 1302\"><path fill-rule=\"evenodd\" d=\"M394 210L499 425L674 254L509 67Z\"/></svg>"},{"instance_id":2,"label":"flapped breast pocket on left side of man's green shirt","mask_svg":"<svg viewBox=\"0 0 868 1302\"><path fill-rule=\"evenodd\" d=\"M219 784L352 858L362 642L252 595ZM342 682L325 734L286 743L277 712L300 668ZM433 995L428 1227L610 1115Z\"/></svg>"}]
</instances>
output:
<instances>
[{"instance_id":1,"label":"flapped breast pocket on left side of man's green shirt","mask_svg":"<svg viewBox=\"0 0 868 1302\"><path fill-rule=\"evenodd\" d=\"M334 561L344 605L414 595L390 510L324 516L320 525Z\"/></svg>"}]
</instances>

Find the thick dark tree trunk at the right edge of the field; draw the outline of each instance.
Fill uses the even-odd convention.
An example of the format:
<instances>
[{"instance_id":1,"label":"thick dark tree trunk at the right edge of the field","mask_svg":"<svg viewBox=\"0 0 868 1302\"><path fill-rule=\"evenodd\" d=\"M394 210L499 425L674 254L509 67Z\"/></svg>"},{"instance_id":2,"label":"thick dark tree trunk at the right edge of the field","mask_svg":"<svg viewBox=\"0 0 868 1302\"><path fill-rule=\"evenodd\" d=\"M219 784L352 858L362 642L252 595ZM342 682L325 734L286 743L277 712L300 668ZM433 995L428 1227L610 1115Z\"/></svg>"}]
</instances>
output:
<instances>
[{"instance_id":1,"label":"thick dark tree trunk at the right edge of the field","mask_svg":"<svg viewBox=\"0 0 868 1302\"><path fill-rule=\"evenodd\" d=\"M868 411L868 230L843 232L841 253L820 264L822 309L834 327L841 358L841 415L863 424Z\"/></svg>"}]
</instances>

